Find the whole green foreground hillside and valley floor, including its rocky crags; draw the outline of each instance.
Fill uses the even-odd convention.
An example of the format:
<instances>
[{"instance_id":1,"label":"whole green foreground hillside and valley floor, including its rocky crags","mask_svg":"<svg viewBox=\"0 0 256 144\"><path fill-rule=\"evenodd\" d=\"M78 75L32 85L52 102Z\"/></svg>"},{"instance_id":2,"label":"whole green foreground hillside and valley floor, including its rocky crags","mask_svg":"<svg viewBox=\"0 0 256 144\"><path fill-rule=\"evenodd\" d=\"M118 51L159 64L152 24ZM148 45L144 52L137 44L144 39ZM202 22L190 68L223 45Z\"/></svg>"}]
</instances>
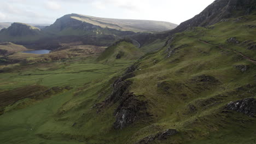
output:
<instances>
[{"instance_id":1,"label":"whole green foreground hillside and valley floor, including its rocky crags","mask_svg":"<svg viewBox=\"0 0 256 144\"><path fill-rule=\"evenodd\" d=\"M119 41L99 57L2 65L0 141L255 143L255 103L227 107L256 98L255 20L193 27L141 58Z\"/></svg>"}]
</instances>

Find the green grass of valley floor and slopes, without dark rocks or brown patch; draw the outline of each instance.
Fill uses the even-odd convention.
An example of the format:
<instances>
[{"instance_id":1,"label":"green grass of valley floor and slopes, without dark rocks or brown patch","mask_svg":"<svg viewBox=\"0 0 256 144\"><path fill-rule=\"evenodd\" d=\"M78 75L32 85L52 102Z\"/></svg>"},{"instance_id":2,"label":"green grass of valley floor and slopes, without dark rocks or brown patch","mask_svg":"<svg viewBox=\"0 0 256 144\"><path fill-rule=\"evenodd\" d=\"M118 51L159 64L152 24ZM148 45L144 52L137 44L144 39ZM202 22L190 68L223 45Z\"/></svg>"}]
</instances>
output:
<instances>
[{"instance_id":1,"label":"green grass of valley floor and slopes, without dark rocks or brown patch","mask_svg":"<svg viewBox=\"0 0 256 144\"><path fill-rule=\"evenodd\" d=\"M73 89L0 116L0 140L2 143L135 143L158 131L174 128L180 132L178 135L153 143L253 143L255 118L222 111L229 101L255 98L255 64L232 50L200 40L254 57L255 51L245 45L225 41L230 37L254 40L255 28L246 26L255 23L254 20L255 16L248 16L246 21L217 23L214 29L199 27L178 33L171 44L140 59L141 70L130 79L133 81L130 91L145 96L139 99L148 101L148 111L153 116L122 130L112 127L116 105L100 113L92 107L107 97L116 77L135 62L132 55L115 59L120 50L127 50L124 47L136 49L129 43L109 47L97 62L73 58L13 66L0 75L0 91L35 83ZM165 51L170 45L178 50L167 58ZM241 64L249 65L249 69L241 72L234 67ZM203 74L219 82L201 82L199 76ZM195 106L196 111L189 105Z\"/></svg>"}]
</instances>

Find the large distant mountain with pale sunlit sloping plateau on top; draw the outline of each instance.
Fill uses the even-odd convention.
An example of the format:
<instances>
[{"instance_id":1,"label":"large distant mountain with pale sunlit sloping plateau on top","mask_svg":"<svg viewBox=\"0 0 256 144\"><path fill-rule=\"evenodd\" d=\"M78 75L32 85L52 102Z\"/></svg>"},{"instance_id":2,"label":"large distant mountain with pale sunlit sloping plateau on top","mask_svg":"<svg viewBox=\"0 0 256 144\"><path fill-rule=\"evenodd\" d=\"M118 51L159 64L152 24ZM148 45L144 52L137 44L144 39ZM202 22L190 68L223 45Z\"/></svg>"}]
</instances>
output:
<instances>
[{"instance_id":1,"label":"large distant mountain with pale sunlit sloping plateau on top","mask_svg":"<svg viewBox=\"0 0 256 144\"><path fill-rule=\"evenodd\" d=\"M50 30L63 31L66 28L80 29L82 31L88 30L88 27L110 28L119 31L133 31L133 32L154 32L167 31L175 28L177 25L170 22L163 21L149 21L149 20L125 20L125 19L107 19L100 17L93 17L80 14L68 14L48 27Z\"/></svg>"}]
</instances>

